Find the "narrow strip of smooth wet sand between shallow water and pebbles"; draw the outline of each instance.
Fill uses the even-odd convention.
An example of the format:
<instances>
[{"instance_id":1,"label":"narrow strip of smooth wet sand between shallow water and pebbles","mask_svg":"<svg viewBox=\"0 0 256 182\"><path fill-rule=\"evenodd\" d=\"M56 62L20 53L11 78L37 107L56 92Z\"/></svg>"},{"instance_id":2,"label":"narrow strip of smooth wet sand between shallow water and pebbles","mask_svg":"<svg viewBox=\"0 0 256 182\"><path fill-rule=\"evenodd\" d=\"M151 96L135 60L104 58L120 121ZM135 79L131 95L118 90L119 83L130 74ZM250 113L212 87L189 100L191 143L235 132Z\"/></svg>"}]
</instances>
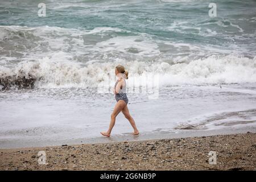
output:
<instances>
[{"instance_id":1,"label":"narrow strip of smooth wet sand between shallow water and pebbles","mask_svg":"<svg viewBox=\"0 0 256 182\"><path fill-rule=\"evenodd\" d=\"M243 126L243 127L229 127L218 130L171 130L171 131L157 131L141 133L139 135L115 134L112 137L103 137L99 132L100 137L94 138L76 138L65 140L36 140L36 139L0 139L0 150L11 148L31 148L31 147L53 147L61 146L63 144L77 145L77 144L100 144L100 143L113 143L124 141L143 141L155 139L174 139L174 138L188 138L188 137L208 137L213 135L226 135L226 134L241 134L241 133L256 133L256 127Z\"/></svg>"}]
</instances>

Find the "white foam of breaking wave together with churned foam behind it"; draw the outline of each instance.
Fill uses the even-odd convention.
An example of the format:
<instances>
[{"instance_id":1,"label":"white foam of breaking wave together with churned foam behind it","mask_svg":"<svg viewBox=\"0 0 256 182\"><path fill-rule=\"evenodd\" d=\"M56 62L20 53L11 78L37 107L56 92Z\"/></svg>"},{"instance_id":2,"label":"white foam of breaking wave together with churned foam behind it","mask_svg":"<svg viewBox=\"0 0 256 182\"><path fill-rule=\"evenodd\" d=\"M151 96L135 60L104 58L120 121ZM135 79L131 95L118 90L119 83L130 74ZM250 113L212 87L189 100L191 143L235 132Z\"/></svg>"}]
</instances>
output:
<instances>
[{"instance_id":1,"label":"white foam of breaking wave together with churned foam behind it","mask_svg":"<svg viewBox=\"0 0 256 182\"><path fill-rule=\"evenodd\" d=\"M109 32L126 31L111 27L77 30L0 26L0 31L5 35L1 36L5 45L1 44L1 78L17 76L21 71L22 76L35 77L38 87L97 86L108 80L117 64L125 65L130 78L157 73L160 85L256 80L255 57L235 54L238 47L233 44L230 46L233 51L228 51L221 46L155 40L145 33L109 36ZM11 41L5 42L5 38ZM15 42L22 42L22 46L16 46ZM162 53L165 49L167 56ZM228 55L230 52L234 54ZM191 58L195 54L197 57Z\"/></svg>"}]
</instances>

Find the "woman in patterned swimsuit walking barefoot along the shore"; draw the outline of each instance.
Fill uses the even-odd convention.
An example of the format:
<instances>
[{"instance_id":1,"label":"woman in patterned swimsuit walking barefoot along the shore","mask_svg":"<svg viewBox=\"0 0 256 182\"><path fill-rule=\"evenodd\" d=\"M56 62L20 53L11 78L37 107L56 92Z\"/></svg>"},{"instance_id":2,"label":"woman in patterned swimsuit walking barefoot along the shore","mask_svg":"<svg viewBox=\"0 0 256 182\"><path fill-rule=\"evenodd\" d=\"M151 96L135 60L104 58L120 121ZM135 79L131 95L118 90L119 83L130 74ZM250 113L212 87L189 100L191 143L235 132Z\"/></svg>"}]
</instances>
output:
<instances>
[{"instance_id":1,"label":"woman in patterned swimsuit walking barefoot along the shore","mask_svg":"<svg viewBox=\"0 0 256 182\"><path fill-rule=\"evenodd\" d=\"M111 121L109 124L109 129L106 132L101 132L102 135L106 137L110 137L110 133L115 125L115 117L122 111L123 115L125 115L126 119L131 123L133 127L133 134L138 135L139 131L135 125L133 117L131 117L129 113L129 109L127 107L128 98L126 96L126 81L128 79L128 72L125 71L125 67L122 65L118 65L115 67L115 75L118 77L117 82L115 82L115 86L113 88L113 92L115 94L115 100L117 104L115 104L113 113L111 114Z\"/></svg>"}]
</instances>

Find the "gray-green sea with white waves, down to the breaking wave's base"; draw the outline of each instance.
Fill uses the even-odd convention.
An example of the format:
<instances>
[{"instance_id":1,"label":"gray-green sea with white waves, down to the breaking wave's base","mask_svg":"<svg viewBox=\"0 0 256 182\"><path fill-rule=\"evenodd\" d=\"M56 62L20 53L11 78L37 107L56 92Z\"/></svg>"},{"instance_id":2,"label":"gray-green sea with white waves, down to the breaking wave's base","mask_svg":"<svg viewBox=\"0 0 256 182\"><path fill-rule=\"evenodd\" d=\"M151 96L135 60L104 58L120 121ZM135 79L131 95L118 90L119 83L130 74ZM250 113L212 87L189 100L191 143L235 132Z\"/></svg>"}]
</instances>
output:
<instances>
[{"instance_id":1,"label":"gray-green sea with white waves, down to the breaking wave's base","mask_svg":"<svg viewBox=\"0 0 256 182\"><path fill-rule=\"evenodd\" d=\"M0 74L86 87L123 64L167 85L254 82L256 1L214 1L209 16L211 2L44 1L40 17L41 1L1 1Z\"/></svg>"}]
</instances>

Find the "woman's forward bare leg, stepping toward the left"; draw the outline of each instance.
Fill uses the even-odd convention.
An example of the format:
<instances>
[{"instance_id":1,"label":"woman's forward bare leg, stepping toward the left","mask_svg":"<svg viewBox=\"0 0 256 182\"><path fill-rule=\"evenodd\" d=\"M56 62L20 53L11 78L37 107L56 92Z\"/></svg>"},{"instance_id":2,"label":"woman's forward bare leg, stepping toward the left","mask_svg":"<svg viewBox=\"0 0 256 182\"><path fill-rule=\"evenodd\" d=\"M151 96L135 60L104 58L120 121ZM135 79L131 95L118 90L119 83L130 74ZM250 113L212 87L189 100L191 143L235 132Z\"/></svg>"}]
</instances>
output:
<instances>
[{"instance_id":1,"label":"woman's forward bare leg, stepping toward the left","mask_svg":"<svg viewBox=\"0 0 256 182\"><path fill-rule=\"evenodd\" d=\"M125 101L122 101L122 100L119 100L117 102L117 104L115 104L113 113L111 114L109 129L106 132L101 132L102 135L104 135L106 137L110 137L111 131L115 125L115 117L117 117L117 115L120 113L120 111L123 109L123 107L125 107L125 105L126 105Z\"/></svg>"}]
</instances>

